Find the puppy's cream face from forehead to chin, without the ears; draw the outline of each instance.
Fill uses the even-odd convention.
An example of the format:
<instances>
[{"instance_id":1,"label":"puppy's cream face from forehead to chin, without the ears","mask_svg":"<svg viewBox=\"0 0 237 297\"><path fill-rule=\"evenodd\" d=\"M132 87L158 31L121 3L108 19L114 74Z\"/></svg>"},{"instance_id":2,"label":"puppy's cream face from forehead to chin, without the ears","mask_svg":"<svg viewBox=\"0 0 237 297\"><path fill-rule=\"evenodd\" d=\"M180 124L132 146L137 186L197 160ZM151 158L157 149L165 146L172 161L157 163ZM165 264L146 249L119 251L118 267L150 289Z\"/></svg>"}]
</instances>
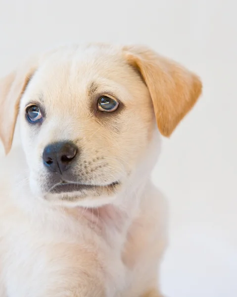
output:
<instances>
[{"instance_id":1,"label":"puppy's cream face from forehead to chin, without the ears","mask_svg":"<svg viewBox=\"0 0 237 297\"><path fill-rule=\"evenodd\" d=\"M113 197L144 157L154 128L149 92L118 54L58 52L21 99L32 190L50 200Z\"/></svg>"}]
</instances>

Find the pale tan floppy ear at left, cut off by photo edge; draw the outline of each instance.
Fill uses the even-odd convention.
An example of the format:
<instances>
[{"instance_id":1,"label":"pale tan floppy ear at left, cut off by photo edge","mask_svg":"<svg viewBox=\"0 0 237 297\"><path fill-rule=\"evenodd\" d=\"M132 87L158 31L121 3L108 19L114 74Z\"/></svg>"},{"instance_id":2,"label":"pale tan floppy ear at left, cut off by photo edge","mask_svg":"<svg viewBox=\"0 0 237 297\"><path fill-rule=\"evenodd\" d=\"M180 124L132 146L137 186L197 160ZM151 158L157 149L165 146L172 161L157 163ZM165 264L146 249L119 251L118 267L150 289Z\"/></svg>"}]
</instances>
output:
<instances>
[{"instance_id":1,"label":"pale tan floppy ear at left, cut off by photo edge","mask_svg":"<svg viewBox=\"0 0 237 297\"><path fill-rule=\"evenodd\" d=\"M7 154L12 145L19 103L35 67L25 65L0 79L0 139Z\"/></svg>"}]
</instances>

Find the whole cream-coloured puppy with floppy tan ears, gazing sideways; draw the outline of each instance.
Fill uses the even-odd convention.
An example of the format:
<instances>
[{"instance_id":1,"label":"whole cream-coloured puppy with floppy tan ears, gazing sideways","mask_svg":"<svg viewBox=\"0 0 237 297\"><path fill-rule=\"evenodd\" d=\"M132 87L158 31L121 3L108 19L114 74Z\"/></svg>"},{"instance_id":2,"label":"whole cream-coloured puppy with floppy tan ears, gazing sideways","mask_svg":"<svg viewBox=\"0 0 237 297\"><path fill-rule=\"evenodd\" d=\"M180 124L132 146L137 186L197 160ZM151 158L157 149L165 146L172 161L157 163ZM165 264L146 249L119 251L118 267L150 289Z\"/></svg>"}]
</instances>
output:
<instances>
[{"instance_id":1,"label":"whole cream-coloured puppy with floppy tan ears, gazing sideways","mask_svg":"<svg viewBox=\"0 0 237 297\"><path fill-rule=\"evenodd\" d=\"M160 151L198 77L139 46L62 47L0 81L0 297L160 297ZM158 126L158 129L157 129Z\"/></svg>"}]
</instances>

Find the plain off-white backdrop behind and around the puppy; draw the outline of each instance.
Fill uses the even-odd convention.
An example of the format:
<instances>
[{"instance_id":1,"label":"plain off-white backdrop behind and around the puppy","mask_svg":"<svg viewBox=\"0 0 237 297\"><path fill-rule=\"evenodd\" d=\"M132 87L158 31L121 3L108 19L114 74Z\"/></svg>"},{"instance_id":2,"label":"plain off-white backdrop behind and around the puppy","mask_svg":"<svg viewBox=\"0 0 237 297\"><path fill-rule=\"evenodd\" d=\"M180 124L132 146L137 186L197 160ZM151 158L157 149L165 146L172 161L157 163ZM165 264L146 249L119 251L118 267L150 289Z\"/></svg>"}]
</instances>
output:
<instances>
[{"instance_id":1,"label":"plain off-white backdrop behind and around the puppy","mask_svg":"<svg viewBox=\"0 0 237 297\"><path fill-rule=\"evenodd\" d=\"M234 0L0 0L0 76L64 43L148 45L195 71L203 96L164 139L168 297L237 297L237 17Z\"/></svg>"}]
</instances>

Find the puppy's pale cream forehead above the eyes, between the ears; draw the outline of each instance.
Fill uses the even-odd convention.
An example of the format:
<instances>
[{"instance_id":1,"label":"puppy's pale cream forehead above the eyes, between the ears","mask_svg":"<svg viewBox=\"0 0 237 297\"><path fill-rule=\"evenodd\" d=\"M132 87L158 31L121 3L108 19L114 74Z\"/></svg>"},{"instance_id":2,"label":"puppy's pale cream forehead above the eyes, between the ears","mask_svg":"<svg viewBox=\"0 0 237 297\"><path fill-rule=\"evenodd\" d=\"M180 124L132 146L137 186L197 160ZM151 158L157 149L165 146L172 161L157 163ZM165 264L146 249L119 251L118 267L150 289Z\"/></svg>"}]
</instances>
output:
<instances>
[{"instance_id":1,"label":"puppy's pale cream forehead above the eyes, between the ears","mask_svg":"<svg viewBox=\"0 0 237 297\"><path fill-rule=\"evenodd\" d=\"M114 48L64 48L47 57L36 70L27 89L32 99L85 99L91 91L129 93L139 76L121 50ZM122 95L121 94L121 95ZM125 95L125 94L124 94ZM123 96L126 98L126 96ZM50 102L50 103L53 103Z\"/></svg>"}]
</instances>

